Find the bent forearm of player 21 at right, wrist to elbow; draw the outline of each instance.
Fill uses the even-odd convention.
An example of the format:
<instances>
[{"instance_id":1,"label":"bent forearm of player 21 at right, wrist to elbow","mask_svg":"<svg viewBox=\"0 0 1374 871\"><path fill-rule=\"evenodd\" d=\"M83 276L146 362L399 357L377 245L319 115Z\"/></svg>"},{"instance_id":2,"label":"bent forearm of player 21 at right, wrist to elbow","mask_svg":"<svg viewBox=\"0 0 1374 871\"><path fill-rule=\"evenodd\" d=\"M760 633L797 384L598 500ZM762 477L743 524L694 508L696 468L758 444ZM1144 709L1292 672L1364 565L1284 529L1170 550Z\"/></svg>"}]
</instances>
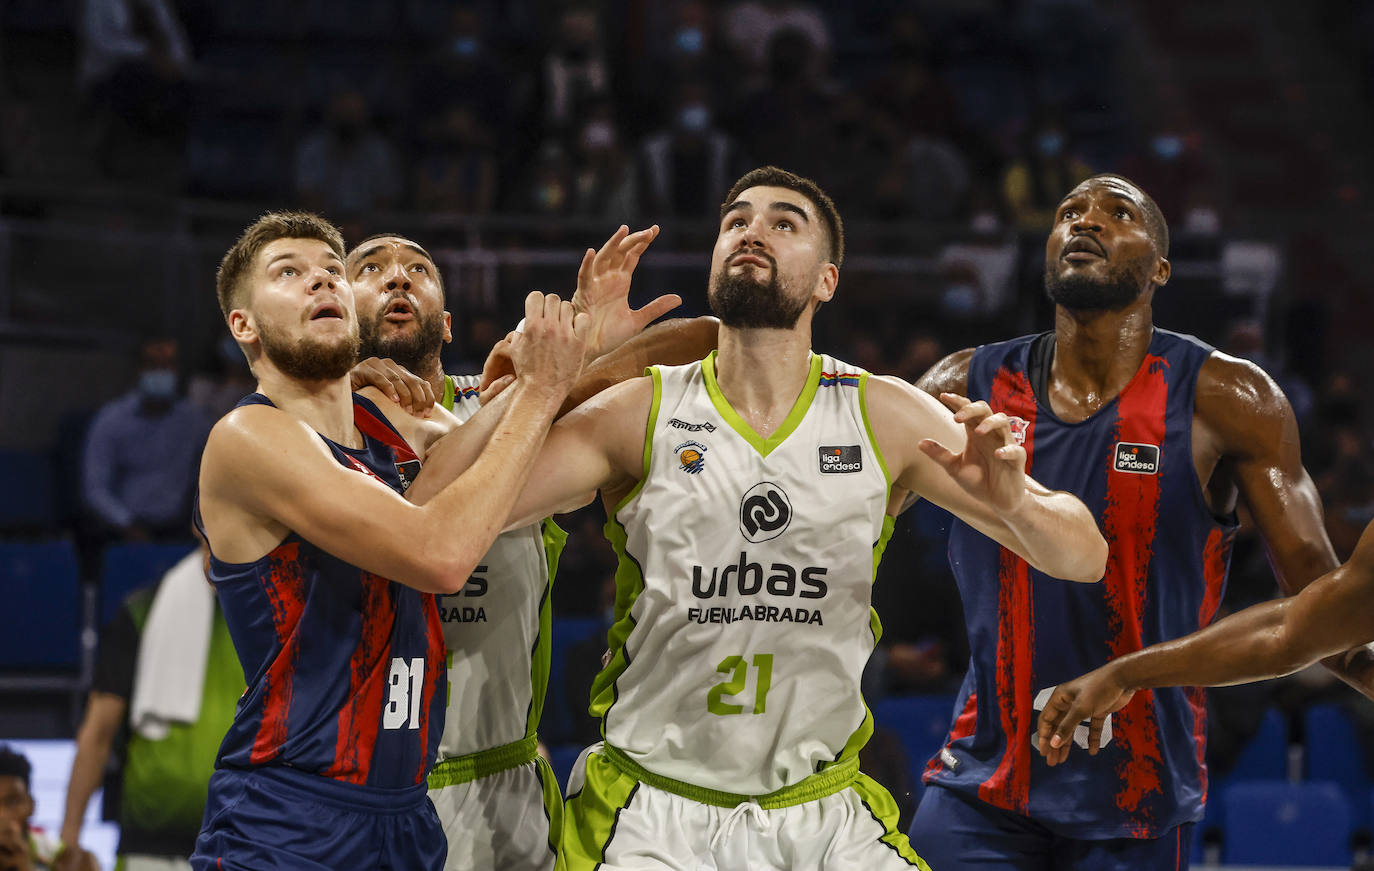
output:
<instances>
[{"instance_id":1,"label":"bent forearm of player 21 at right, wrist to elbow","mask_svg":"<svg viewBox=\"0 0 1374 871\"><path fill-rule=\"evenodd\" d=\"M1080 582L1099 581L1106 573L1107 543L1077 497L1029 492L1002 521L1020 541L1017 551L1037 570Z\"/></svg>"}]
</instances>

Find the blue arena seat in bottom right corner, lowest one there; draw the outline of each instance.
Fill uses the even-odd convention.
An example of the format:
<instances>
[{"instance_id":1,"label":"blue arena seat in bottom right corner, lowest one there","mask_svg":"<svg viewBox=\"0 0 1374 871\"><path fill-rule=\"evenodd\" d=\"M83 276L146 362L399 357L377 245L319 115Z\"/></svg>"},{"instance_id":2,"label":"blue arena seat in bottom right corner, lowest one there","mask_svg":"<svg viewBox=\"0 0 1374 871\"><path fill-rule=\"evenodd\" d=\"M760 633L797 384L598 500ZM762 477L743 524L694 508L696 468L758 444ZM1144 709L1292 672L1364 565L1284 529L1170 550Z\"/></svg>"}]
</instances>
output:
<instances>
[{"instance_id":1,"label":"blue arena seat in bottom right corner, lowest one there","mask_svg":"<svg viewBox=\"0 0 1374 871\"><path fill-rule=\"evenodd\" d=\"M1223 802L1227 864L1351 864L1351 809L1334 783L1242 780L1227 787Z\"/></svg>"}]
</instances>

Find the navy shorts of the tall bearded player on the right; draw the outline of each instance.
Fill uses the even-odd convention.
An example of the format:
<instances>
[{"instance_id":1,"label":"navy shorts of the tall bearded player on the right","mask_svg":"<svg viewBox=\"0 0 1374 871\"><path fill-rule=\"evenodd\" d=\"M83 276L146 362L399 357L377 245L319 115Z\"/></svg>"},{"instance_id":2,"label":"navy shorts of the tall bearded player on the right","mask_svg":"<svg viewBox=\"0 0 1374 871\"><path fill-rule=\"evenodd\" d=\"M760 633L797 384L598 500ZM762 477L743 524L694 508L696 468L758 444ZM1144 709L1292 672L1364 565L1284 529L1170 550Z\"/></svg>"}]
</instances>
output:
<instances>
[{"instance_id":1,"label":"navy shorts of the tall bearded player on the right","mask_svg":"<svg viewBox=\"0 0 1374 871\"><path fill-rule=\"evenodd\" d=\"M1160 838L1080 841L1035 820L929 784L911 846L937 871L1186 871L1194 823Z\"/></svg>"}]
</instances>

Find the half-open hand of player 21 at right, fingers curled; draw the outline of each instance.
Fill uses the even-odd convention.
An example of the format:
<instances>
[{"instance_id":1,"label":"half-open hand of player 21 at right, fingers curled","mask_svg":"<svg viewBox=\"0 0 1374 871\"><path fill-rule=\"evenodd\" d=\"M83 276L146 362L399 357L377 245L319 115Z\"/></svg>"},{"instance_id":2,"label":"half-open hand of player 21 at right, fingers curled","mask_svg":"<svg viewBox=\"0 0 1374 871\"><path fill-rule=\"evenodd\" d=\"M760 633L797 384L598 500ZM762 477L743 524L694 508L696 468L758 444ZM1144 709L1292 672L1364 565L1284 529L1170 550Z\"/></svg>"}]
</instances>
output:
<instances>
[{"instance_id":1,"label":"half-open hand of player 21 at right, fingers curled","mask_svg":"<svg viewBox=\"0 0 1374 871\"><path fill-rule=\"evenodd\" d=\"M1010 418L955 393L941 393L940 401L963 425L963 451L955 453L933 438L922 438L918 446L969 495L1000 514L1014 512L1026 496L1026 452L1011 434Z\"/></svg>"}]
</instances>

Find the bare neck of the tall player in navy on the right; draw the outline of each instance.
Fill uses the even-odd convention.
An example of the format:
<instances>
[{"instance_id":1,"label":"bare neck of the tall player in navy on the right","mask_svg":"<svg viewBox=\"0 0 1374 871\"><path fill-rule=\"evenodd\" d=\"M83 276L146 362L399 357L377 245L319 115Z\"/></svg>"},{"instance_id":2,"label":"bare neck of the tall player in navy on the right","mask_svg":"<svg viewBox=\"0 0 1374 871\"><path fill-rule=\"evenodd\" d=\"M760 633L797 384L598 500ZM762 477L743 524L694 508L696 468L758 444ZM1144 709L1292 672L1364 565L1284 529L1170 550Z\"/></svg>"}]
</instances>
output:
<instances>
[{"instance_id":1,"label":"bare neck of the tall player in navy on the right","mask_svg":"<svg viewBox=\"0 0 1374 871\"><path fill-rule=\"evenodd\" d=\"M1054 310L1054 364L1050 382L1070 394L1118 394L1145 360L1154 338L1149 302L1138 301L1114 312Z\"/></svg>"}]
</instances>

